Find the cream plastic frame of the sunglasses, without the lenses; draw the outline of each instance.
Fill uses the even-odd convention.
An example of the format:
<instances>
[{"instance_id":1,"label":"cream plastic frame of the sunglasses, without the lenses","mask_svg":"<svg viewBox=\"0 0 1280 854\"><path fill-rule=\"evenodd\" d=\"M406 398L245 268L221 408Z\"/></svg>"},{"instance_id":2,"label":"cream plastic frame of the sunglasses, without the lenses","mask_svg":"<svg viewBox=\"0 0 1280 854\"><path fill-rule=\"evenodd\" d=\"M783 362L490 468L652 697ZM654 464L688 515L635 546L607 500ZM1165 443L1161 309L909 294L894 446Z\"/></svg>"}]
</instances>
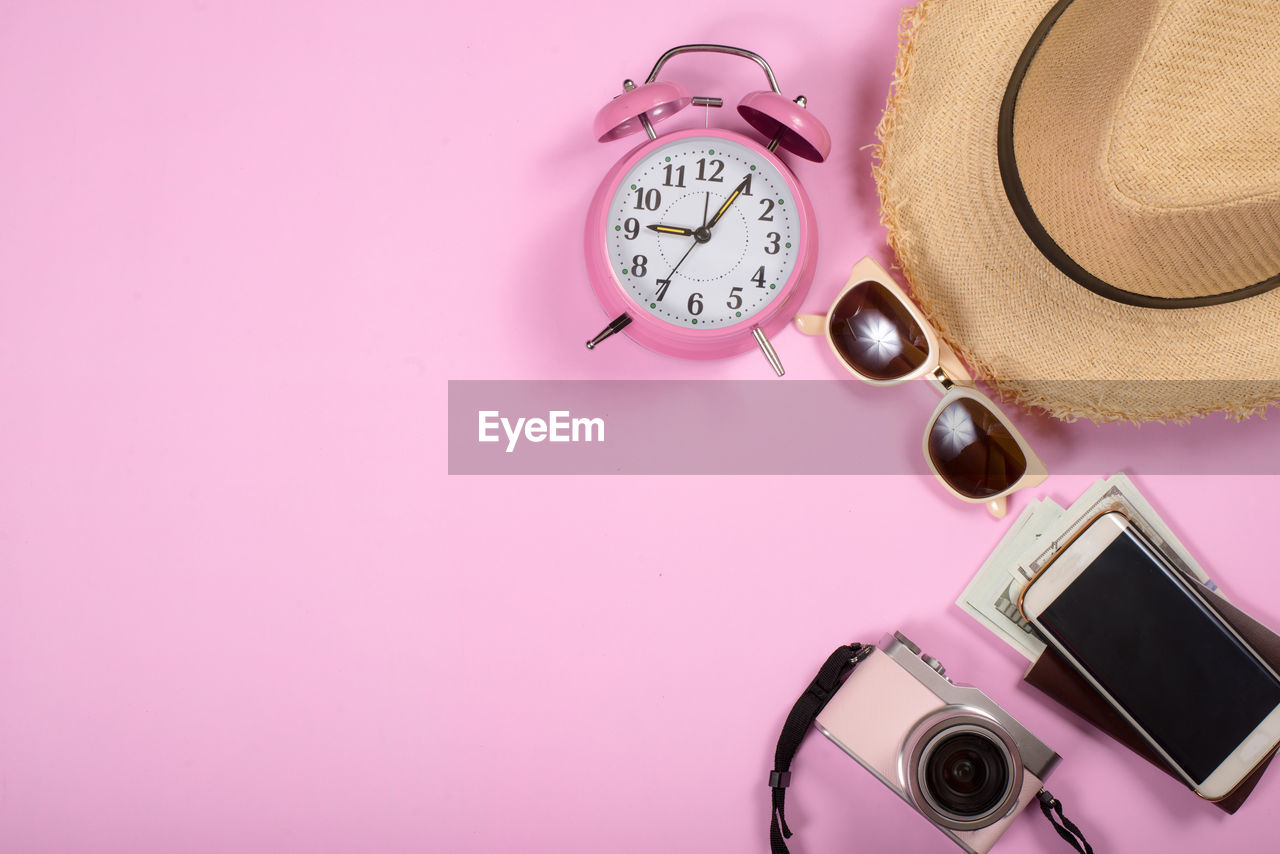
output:
<instances>
[{"instance_id":1,"label":"cream plastic frame of the sunglasses, without the lenses","mask_svg":"<svg viewBox=\"0 0 1280 854\"><path fill-rule=\"evenodd\" d=\"M914 320L924 333L924 339L929 344L929 352L919 367L902 374L901 376L895 376L893 379L873 379L849 364L844 353L840 352L840 348L836 347L835 335L831 334L832 312L835 312L836 306L840 305L840 301L844 300L850 291L864 282L874 282L887 289L893 298L897 300L904 309L906 309L908 314L911 315L911 320ZM1044 462L1036 456L1034 451L1032 451L1032 447L1027 442L1025 437L1023 437L1018 428L1014 426L1014 423L1009 420L1000 407L996 406L995 401L974 388L973 376L965 369L960 357L956 356L950 344L938 338L933 325L925 320L924 312L922 312L919 307L911 302L910 297L906 296L906 292L897 286L897 282L890 277L888 271L886 271L884 268L876 261L876 259L864 257L854 265L854 269L849 274L849 282L845 283L845 287L841 288L836 298L832 300L831 309L827 310L826 315L796 315L796 326L805 334L823 335L827 339L827 344L831 347L831 352L835 353L837 360L840 360L840 364L844 365L850 374L869 385L897 385L900 383L906 383L923 376L928 379L934 388L942 392L942 401L938 403L937 408L933 410L933 415L929 416L929 420L924 424L924 438L920 442L920 448L924 452L924 462L929 466L929 471L933 476L942 483L947 492L960 501L969 504L987 504L991 513L1000 519L1007 510L1007 498L1011 493L1015 493L1019 489L1038 487L1044 483L1046 478L1048 478L1048 469L1044 467ZM1007 489L1004 489L993 495L975 498L959 492L942 475L942 472L938 471L938 467L933 463L933 457L929 455L929 434L933 431L933 425L937 424L938 416L942 415L943 410L960 398L975 401L995 415L996 420L998 420L1005 430L1009 431L1009 435L1014 439L1019 449L1021 449L1023 456L1027 458L1027 470L1023 475L1011 483Z\"/></svg>"}]
</instances>

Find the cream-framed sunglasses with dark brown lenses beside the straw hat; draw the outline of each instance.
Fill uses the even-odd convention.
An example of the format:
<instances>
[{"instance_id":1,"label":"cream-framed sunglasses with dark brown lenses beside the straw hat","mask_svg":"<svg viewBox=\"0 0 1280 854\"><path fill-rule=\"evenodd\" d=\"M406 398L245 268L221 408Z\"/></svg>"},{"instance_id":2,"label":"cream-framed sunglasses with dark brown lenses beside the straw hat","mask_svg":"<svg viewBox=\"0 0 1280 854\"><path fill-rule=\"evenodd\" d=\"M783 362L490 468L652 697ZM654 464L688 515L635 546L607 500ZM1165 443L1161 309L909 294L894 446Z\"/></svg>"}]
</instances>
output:
<instances>
[{"instance_id":1,"label":"cream-framed sunglasses with dark brown lenses beside the straw hat","mask_svg":"<svg viewBox=\"0 0 1280 854\"><path fill-rule=\"evenodd\" d=\"M942 392L924 430L924 458L942 485L961 501L1005 515L1010 493L1044 481L1048 471L915 303L879 264L854 265L827 316L797 315L796 326L826 335L832 352L858 379L895 385L924 376Z\"/></svg>"}]
</instances>

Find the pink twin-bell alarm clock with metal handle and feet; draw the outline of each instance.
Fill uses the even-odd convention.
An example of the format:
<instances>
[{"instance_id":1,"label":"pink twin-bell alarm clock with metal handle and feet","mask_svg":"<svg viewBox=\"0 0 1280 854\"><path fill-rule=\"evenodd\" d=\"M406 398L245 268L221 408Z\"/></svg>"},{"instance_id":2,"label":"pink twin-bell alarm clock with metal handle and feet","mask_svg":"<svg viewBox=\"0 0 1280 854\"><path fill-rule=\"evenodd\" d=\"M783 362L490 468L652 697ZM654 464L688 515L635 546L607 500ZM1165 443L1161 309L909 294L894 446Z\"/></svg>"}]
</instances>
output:
<instances>
[{"instance_id":1,"label":"pink twin-bell alarm clock with metal handle and feet","mask_svg":"<svg viewBox=\"0 0 1280 854\"><path fill-rule=\"evenodd\" d=\"M765 143L723 128L676 131L654 123L718 97L690 97L657 79L672 56L731 54L753 60L769 90L751 92L737 111ZM721 359L759 346L782 375L769 335L795 314L813 282L818 228L796 177L774 151L823 161L831 136L805 110L804 96L782 95L759 55L724 45L682 45L663 54L643 86L595 117L600 142L644 131L605 175L586 216L586 270L613 318L588 350L626 330L636 342L684 359Z\"/></svg>"}]
</instances>

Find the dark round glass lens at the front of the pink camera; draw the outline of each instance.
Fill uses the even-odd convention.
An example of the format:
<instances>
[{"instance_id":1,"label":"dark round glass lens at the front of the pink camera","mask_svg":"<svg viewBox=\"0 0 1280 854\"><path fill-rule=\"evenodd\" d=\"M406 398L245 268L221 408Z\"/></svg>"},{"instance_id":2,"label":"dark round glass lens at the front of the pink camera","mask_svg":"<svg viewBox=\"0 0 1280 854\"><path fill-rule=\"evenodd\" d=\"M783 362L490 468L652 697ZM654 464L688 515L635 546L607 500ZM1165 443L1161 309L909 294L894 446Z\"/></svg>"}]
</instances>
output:
<instances>
[{"instance_id":1,"label":"dark round glass lens at the front of the pink camera","mask_svg":"<svg viewBox=\"0 0 1280 854\"><path fill-rule=\"evenodd\" d=\"M1009 791L1010 767L1004 750L977 732L959 732L937 743L925 761L924 782L942 809L964 818L991 812Z\"/></svg>"}]
</instances>

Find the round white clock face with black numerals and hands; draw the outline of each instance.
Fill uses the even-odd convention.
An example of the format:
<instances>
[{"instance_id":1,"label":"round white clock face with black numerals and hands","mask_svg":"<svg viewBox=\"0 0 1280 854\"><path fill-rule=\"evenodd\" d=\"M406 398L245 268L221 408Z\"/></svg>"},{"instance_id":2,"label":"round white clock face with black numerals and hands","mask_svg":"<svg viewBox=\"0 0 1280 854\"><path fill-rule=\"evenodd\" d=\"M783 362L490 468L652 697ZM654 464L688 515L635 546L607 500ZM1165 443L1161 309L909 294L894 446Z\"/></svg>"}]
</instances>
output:
<instances>
[{"instance_id":1,"label":"round white clock face with black numerals and hands","mask_svg":"<svg viewBox=\"0 0 1280 854\"><path fill-rule=\"evenodd\" d=\"M799 260L800 211L758 151L685 137L649 151L609 202L609 261L649 314L717 329L768 306Z\"/></svg>"}]
</instances>

